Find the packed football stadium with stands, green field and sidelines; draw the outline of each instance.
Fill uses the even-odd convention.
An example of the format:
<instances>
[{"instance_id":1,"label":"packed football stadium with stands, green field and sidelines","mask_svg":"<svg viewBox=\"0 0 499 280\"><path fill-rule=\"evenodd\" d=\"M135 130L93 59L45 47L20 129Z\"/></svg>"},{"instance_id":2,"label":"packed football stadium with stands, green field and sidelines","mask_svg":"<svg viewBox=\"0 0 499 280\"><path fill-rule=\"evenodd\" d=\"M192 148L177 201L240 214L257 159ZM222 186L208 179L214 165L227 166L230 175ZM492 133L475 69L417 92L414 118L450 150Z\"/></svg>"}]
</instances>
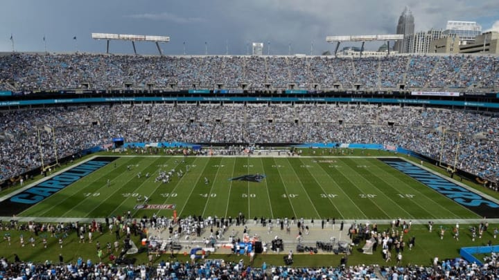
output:
<instances>
[{"instance_id":1,"label":"packed football stadium with stands, green field and sidelines","mask_svg":"<svg viewBox=\"0 0 499 280\"><path fill-rule=\"evenodd\" d=\"M1 53L0 279L493 279L498 85L482 54Z\"/></svg>"}]
</instances>

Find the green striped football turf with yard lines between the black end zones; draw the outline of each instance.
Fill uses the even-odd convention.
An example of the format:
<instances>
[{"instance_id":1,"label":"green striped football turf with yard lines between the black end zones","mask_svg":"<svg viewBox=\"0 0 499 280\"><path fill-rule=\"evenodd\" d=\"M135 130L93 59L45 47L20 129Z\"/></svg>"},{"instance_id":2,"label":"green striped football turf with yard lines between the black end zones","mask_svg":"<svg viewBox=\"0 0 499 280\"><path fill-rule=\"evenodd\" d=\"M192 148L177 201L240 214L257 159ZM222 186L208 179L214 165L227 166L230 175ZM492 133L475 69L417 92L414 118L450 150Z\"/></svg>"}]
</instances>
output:
<instances>
[{"instance_id":1,"label":"green striped football turf with yard lines between the black end zones","mask_svg":"<svg viewBox=\"0 0 499 280\"><path fill-rule=\"evenodd\" d=\"M169 183L155 182L171 169ZM152 209L137 207L139 196L148 196ZM121 156L19 216L173 216L173 209L177 216L241 212L250 219L480 218L377 158L168 156Z\"/></svg>"}]
</instances>

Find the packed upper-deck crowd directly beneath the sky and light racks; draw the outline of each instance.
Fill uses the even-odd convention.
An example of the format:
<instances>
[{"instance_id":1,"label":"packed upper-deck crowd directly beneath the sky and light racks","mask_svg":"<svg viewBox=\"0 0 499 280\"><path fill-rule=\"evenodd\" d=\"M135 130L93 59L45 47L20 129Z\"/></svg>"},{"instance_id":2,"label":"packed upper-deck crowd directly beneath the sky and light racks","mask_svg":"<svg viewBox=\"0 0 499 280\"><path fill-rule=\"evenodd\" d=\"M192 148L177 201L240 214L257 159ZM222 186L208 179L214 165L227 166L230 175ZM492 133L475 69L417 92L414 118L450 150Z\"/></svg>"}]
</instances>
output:
<instances>
[{"instance_id":1,"label":"packed upper-deck crowd directly beneath the sky and light racks","mask_svg":"<svg viewBox=\"0 0 499 280\"><path fill-rule=\"evenodd\" d=\"M132 56L103 54L24 54L0 56L0 90L81 88L295 88L339 85L360 88L497 88L499 57L471 55L330 56ZM85 86L85 87L86 87ZM317 87L316 87L317 86Z\"/></svg>"}]
</instances>

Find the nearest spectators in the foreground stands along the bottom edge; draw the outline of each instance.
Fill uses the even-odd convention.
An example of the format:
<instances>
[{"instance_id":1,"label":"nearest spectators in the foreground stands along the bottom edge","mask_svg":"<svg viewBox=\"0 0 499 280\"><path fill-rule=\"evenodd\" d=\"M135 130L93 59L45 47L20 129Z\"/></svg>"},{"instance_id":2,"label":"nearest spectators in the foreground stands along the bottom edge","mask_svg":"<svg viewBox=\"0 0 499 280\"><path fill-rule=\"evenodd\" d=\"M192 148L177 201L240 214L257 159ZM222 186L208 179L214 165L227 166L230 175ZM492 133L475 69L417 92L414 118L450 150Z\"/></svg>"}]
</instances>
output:
<instances>
[{"instance_id":1,"label":"nearest spectators in the foreground stands along the bottom edge","mask_svg":"<svg viewBox=\"0 0 499 280\"><path fill-rule=\"evenodd\" d=\"M272 266L254 268L241 263L207 260L204 263L161 261L159 265L104 263L13 263L0 258L0 279L494 279L491 265L443 261L435 266L339 265L321 268ZM376 273L378 272L378 273ZM380 275L380 277L378 277ZM383 278L382 278L383 277Z\"/></svg>"}]
</instances>

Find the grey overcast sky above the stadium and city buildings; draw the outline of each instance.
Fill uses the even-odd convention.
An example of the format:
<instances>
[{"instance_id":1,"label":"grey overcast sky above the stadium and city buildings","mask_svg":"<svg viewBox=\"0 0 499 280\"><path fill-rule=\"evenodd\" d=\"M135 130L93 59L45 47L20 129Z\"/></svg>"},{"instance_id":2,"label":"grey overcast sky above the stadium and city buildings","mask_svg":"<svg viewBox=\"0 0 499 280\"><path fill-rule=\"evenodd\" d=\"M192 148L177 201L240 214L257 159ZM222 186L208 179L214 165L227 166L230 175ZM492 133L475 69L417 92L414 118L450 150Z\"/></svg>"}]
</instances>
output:
<instances>
[{"instance_id":1,"label":"grey overcast sky above the stadium and city buildings","mask_svg":"<svg viewBox=\"0 0 499 280\"><path fill-rule=\"evenodd\" d=\"M318 55L333 50L326 36L394 34L408 6L416 30L445 28L446 21L477 21L499 31L498 0L1 0L0 51L104 53L91 32L164 35L167 55L245 55L252 42L263 52ZM46 41L43 41L43 38ZM76 40L73 39L76 37ZM207 42L207 44L205 44ZM370 44L376 49L382 43ZM344 46L360 46L360 43ZM152 43L138 53L157 53ZM132 44L111 41L112 53L132 53Z\"/></svg>"}]
</instances>

